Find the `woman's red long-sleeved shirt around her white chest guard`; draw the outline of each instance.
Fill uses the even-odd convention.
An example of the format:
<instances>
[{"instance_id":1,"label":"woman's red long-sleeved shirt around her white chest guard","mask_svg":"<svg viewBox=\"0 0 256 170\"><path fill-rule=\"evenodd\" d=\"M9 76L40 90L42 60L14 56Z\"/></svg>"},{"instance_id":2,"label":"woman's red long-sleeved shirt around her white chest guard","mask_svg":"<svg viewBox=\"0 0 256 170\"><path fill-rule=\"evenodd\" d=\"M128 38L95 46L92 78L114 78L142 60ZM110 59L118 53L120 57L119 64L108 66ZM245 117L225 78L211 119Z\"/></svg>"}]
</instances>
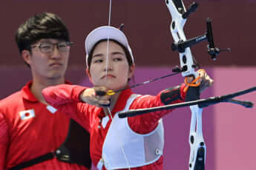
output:
<instances>
[{"instance_id":1,"label":"woman's red long-sleeved shirt around her white chest guard","mask_svg":"<svg viewBox=\"0 0 256 170\"><path fill-rule=\"evenodd\" d=\"M184 86L182 86L181 93L183 92ZM111 125L111 117L109 116L108 123L105 128L102 126L102 118L105 117L105 113L102 108L88 105L87 103L79 102L79 94L85 89L82 86L70 86L70 85L59 85L47 87L43 90L45 100L52 106L59 109L61 112L65 112L70 118L73 118L77 122L81 123L85 128L90 129L91 133L91 158L93 165L96 166L102 157L102 146L107 135L108 129ZM125 104L132 94L131 89L123 91L116 101L114 109L111 111L112 117L116 112L121 111L125 108ZM163 103L160 101L160 94L157 96L142 95L131 103L130 109L148 108L153 106L162 106ZM176 101L181 102L181 101ZM145 115L140 115L132 118L128 118L128 123L135 132L144 134L153 131L158 123L158 120L166 115L169 111L154 112ZM142 166L133 169L163 169L163 156L160 157L155 163L151 163L148 166Z\"/></svg>"}]
</instances>

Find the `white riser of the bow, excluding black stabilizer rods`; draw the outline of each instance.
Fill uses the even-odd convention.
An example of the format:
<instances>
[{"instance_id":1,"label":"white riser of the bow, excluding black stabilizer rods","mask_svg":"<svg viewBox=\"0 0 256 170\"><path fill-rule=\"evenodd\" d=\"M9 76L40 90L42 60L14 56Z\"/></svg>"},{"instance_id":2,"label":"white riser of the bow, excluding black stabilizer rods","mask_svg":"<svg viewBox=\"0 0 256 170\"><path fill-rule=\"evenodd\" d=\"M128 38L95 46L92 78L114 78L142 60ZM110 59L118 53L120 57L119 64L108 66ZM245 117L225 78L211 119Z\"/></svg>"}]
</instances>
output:
<instances>
[{"instance_id":1,"label":"white riser of the bow, excluding black stabilizer rods","mask_svg":"<svg viewBox=\"0 0 256 170\"><path fill-rule=\"evenodd\" d=\"M199 75L195 72L196 64L194 63L193 55L190 50L191 41L186 41L186 35L183 31L183 27L186 24L188 16L197 9L197 4L191 4L191 7L186 11L186 7L182 0L166 0L166 6L171 13L171 35L174 38L174 43L171 45L172 50L178 50L180 52L180 68L178 71L182 72L183 77L193 75L197 78ZM197 38L198 41L202 41L206 38L203 35L202 38ZM188 46L188 47L187 47ZM193 98L187 99L187 101L194 101L199 99L199 87L193 87L188 93L193 93ZM188 95L188 94L187 94ZM202 111L198 105L190 106L191 109L191 125L189 132L189 145L190 156L188 168L191 169L204 169L206 163L206 144L203 140L202 129Z\"/></svg>"}]
</instances>

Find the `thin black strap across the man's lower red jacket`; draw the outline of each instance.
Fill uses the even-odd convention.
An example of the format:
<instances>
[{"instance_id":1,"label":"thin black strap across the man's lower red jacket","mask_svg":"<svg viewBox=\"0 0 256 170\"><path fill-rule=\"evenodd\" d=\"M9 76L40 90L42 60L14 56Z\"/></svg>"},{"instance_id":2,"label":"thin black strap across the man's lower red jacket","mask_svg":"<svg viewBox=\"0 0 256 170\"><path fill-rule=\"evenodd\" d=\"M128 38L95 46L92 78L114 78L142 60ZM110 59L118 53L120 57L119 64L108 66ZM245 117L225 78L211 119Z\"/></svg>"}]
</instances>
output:
<instances>
[{"instance_id":1,"label":"thin black strap across the man's lower red jacket","mask_svg":"<svg viewBox=\"0 0 256 170\"><path fill-rule=\"evenodd\" d=\"M53 157L54 157L54 153L53 152L50 152L50 153L47 153L47 154L43 154L42 156L36 157L33 160L29 160L29 161L24 162L24 163L19 163L17 166L13 166L9 170L24 169L24 168L27 168L29 166L33 166L36 163L42 163L45 160L53 159Z\"/></svg>"}]
</instances>

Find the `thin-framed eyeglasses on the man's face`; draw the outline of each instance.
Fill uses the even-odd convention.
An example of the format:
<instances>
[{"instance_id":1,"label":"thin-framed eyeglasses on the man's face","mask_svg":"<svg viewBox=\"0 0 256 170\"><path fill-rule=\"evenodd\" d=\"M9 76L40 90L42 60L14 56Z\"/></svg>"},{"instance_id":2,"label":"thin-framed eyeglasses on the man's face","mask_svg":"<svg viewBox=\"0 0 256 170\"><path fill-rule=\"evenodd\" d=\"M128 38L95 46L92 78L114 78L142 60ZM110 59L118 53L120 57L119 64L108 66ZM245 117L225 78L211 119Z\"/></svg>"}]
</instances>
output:
<instances>
[{"instance_id":1,"label":"thin-framed eyeglasses on the man's face","mask_svg":"<svg viewBox=\"0 0 256 170\"><path fill-rule=\"evenodd\" d=\"M37 44L31 48L39 47L41 52L51 53L54 50L54 46L56 46L60 52L68 52L70 50L70 46L72 44L73 44L73 42L68 42L68 41L62 41L62 42L58 42L58 43L44 42L41 44Z\"/></svg>"}]
</instances>

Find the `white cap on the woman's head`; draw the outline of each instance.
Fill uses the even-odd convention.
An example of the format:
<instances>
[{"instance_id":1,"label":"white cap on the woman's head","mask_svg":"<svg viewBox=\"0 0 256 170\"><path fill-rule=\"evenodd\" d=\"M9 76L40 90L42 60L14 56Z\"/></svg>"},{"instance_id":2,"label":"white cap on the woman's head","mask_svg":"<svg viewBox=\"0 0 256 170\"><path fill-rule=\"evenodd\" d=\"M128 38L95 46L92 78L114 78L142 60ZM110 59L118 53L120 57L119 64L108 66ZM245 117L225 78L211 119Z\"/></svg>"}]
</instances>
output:
<instances>
[{"instance_id":1,"label":"white cap on the woman's head","mask_svg":"<svg viewBox=\"0 0 256 170\"><path fill-rule=\"evenodd\" d=\"M97 27L95 30L92 30L91 33L85 38L85 52L86 52L86 66L88 67L88 55L90 54L94 45L104 39L110 39L118 41L124 47L127 48L128 52L131 55L131 60L134 63L134 56L132 55L131 48L128 44L128 40L124 33L121 30L111 27L111 26L102 26Z\"/></svg>"}]
</instances>

